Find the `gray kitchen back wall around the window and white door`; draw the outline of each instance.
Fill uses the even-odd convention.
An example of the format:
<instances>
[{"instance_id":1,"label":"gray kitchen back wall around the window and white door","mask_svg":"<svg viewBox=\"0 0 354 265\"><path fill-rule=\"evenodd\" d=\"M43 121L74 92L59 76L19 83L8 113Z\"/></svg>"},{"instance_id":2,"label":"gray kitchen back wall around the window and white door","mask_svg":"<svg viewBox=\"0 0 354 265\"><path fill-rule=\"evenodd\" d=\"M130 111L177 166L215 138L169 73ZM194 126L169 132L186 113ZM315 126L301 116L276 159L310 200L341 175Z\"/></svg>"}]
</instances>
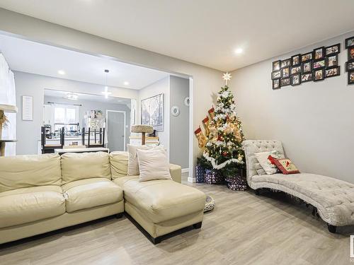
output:
<instances>
[{"instance_id":1,"label":"gray kitchen back wall around the window and white door","mask_svg":"<svg viewBox=\"0 0 354 265\"><path fill-rule=\"evenodd\" d=\"M68 103L68 104L75 104L81 105L79 107L79 124L80 128L84 126L83 120L84 115L86 112L91 110L102 110L103 114L106 114L106 110L120 110L125 112L125 146L129 143L129 136L130 136L130 108L124 104L115 104L115 103L105 103L99 101L91 101L91 100L67 100L65 98L55 98L50 96L44 97L44 102L56 102L56 103Z\"/></svg>"}]
</instances>

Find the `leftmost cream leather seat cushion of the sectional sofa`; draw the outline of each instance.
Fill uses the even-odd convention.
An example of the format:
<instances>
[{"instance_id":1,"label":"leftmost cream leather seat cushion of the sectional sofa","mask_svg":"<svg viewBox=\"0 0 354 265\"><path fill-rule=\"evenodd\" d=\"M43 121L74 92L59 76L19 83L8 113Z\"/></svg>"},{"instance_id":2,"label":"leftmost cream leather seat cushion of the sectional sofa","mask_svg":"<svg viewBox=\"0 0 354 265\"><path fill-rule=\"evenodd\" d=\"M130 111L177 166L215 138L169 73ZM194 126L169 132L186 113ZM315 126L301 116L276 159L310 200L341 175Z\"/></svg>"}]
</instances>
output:
<instances>
[{"instance_id":1,"label":"leftmost cream leather seat cushion of the sectional sofa","mask_svg":"<svg viewBox=\"0 0 354 265\"><path fill-rule=\"evenodd\" d=\"M65 213L59 186L28 187L0 193L0 228L21 225Z\"/></svg>"}]
</instances>

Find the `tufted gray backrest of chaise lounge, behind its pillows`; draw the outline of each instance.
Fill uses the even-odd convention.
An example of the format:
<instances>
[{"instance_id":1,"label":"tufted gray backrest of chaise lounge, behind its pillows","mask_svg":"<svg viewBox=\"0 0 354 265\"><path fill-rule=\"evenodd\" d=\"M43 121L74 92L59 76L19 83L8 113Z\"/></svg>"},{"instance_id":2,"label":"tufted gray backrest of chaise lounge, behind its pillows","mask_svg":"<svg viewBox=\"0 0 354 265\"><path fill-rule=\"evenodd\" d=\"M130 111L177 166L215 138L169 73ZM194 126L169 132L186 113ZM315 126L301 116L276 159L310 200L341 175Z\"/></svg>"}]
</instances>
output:
<instances>
[{"instance_id":1,"label":"tufted gray backrest of chaise lounge, behind its pillows","mask_svg":"<svg viewBox=\"0 0 354 265\"><path fill-rule=\"evenodd\" d=\"M254 167L257 163L255 153L267 152L267 151L279 151L284 154L284 149L282 148L282 143L275 140L245 140L242 142L244 146L244 152L246 155L246 175L247 182L250 184L251 178L254 175L258 175Z\"/></svg>"}]
</instances>

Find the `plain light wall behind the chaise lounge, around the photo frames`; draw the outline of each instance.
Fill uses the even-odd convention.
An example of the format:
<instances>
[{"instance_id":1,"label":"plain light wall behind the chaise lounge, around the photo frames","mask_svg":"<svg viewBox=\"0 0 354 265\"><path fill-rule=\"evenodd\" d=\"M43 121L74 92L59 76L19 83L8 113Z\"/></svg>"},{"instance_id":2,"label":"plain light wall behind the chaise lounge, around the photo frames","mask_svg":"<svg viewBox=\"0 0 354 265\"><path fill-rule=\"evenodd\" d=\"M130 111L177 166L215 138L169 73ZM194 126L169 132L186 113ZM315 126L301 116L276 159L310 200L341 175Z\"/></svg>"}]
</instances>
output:
<instances>
[{"instance_id":1,"label":"plain light wall behind the chaise lounge, around the photo frames","mask_svg":"<svg viewBox=\"0 0 354 265\"><path fill-rule=\"evenodd\" d=\"M345 71L348 33L262 61L232 73L239 117L247 139L278 139L302 172L354 183L350 159L354 150L354 86ZM341 43L341 76L272 90L272 61ZM246 56L246 54L245 54Z\"/></svg>"}]
</instances>

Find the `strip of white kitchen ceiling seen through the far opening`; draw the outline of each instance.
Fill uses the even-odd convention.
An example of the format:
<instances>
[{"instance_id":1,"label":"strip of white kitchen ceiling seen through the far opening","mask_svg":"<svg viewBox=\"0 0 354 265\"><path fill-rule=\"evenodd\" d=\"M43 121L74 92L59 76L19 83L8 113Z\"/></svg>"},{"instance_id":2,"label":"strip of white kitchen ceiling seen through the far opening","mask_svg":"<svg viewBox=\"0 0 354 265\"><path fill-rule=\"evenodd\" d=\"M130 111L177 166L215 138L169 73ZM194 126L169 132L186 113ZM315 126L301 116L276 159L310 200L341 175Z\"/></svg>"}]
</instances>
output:
<instances>
[{"instance_id":1,"label":"strip of white kitchen ceiling seen through the far opening","mask_svg":"<svg viewBox=\"0 0 354 265\"><path fill-rule=\"evenodd\" d=\"M52 90L52 89L44 90L44 95L52 98L64 98L64 95L67 95L67 93L69 92L61 91L61 90ZM112 96L105 98L104 95L92 95L92 94L76 93L76 92L75 94L78 95L78 100L70 100L72 104L80 104L80 100L90 100L96 102L130 105L130 98L116 98Z\"/></svg>"}]
</instances>

